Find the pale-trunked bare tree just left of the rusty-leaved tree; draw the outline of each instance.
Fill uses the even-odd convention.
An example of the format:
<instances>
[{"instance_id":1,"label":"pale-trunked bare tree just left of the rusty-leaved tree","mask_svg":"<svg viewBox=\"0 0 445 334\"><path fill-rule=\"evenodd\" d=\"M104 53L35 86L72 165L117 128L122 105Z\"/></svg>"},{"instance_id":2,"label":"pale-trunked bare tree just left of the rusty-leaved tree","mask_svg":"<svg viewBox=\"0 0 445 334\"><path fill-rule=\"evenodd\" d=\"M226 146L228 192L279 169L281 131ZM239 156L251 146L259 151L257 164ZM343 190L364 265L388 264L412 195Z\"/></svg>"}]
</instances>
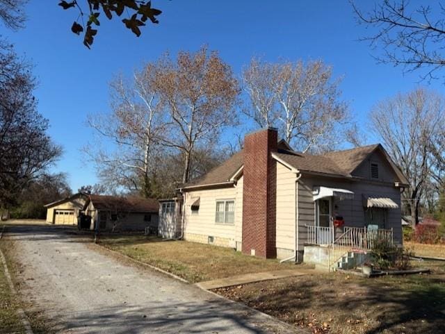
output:
<instances>
[{"instance_id":1,"label":"pale-trunked bare tree just left of the rusty-leaved tree","mask_svg":"<svg viewBox=\"0 0 445 334\"><path fill-rule=\"evenodd\" d=\"M100 140L109 140L113 145L112 151L96 143L88 149L105 172L104 181L133 185L145 197L156 196L150 175L156 169L156 145L164 129L163 107L155 88L157 71L156 65L147 64L134 72L131 80L115 78L110 85L111 113L88 117L88 124L95 128Z\"/></svg>"}]
</instances>

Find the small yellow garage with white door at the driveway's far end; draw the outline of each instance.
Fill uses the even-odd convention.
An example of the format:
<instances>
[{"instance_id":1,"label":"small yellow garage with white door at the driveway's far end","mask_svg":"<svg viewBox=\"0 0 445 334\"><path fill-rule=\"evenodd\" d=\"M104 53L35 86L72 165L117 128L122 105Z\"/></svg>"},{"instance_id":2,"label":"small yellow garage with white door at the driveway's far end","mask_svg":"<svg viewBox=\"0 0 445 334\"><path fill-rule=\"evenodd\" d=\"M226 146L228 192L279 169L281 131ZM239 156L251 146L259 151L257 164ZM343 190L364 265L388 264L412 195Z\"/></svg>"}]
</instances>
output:
<instances>
[{"instance_id":1,"label":"small yellow garage with white door at the driveway's far end","mask_svg":"<svg viewBox=\"0 0 445 334\"><path fill-rule=\"evenodd\" d=\"M83 210L88 195L81 192L65 199L46 204L47 223L56 225L77 224L79 212Z\"/></svg>"}]
</instances>

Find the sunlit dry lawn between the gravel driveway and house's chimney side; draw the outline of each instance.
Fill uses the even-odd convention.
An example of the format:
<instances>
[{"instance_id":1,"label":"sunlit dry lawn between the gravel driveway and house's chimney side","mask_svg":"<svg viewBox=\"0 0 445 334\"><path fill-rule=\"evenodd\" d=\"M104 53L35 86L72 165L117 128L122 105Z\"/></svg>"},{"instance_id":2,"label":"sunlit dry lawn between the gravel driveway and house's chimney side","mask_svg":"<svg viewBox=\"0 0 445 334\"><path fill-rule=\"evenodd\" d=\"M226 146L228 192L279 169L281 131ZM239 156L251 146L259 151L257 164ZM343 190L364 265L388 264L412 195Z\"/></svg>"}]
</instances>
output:
<instances>
[{"instance_id":1,"label":"sunlit dry lawn between the gravel driveway and house's chimney side","mask_svg":"<svg viewBox=\"0 0 445 334\"><path fill-rule=\"evenodd\" d=\"M239 274L295 268L291 263L245 256L233 249L143 235L104 236L100 244L171 272L191 283Z\"/></svg>"}]
</instances>

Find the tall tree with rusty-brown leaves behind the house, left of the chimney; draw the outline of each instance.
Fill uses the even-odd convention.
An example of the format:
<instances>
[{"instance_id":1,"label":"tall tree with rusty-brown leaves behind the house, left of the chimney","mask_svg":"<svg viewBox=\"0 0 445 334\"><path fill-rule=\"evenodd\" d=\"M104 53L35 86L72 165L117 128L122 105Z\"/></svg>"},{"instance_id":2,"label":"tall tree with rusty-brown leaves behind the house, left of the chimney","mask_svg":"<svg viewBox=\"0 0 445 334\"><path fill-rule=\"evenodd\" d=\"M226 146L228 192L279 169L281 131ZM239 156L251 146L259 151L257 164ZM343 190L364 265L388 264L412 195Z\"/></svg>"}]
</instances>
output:
<instances>
[{"instance_id":1,"label":"tall tree with rusty-brown leaves behind the house, left of the chimney","mask_svg":"<svg viewBox=\"0 0 445 334\"><path fill-rule=\"evenodd\" d=\"M182 182L186 183L191 177L193 153L216 142L220 131L234 124L238 82L229 65L207 47L195 53L181 51L176 61L166 55L161 65L157 87L170 115L162 141L181 152Z\"/></svg>"}]
</instances>

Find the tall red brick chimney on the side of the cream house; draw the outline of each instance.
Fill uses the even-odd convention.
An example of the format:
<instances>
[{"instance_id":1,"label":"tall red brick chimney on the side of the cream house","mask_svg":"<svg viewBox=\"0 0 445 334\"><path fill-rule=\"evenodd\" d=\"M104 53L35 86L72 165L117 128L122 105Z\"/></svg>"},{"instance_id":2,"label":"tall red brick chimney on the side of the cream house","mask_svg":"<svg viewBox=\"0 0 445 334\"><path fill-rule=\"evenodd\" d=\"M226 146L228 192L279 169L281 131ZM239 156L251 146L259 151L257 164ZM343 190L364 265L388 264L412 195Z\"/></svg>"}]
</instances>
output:
<instances>
[{"instance_id":1,"label":"tall red brick chimney on the side of the cream house","mask_svg":"<svg viewBox=\"0 0 445 334\"><path fill-rule=\"evenodd\" d=\"M243 253L275 258L277 168L271 153L277 151L277 130L250 133L244 139Z\"/></svg>"}]
</instances>

